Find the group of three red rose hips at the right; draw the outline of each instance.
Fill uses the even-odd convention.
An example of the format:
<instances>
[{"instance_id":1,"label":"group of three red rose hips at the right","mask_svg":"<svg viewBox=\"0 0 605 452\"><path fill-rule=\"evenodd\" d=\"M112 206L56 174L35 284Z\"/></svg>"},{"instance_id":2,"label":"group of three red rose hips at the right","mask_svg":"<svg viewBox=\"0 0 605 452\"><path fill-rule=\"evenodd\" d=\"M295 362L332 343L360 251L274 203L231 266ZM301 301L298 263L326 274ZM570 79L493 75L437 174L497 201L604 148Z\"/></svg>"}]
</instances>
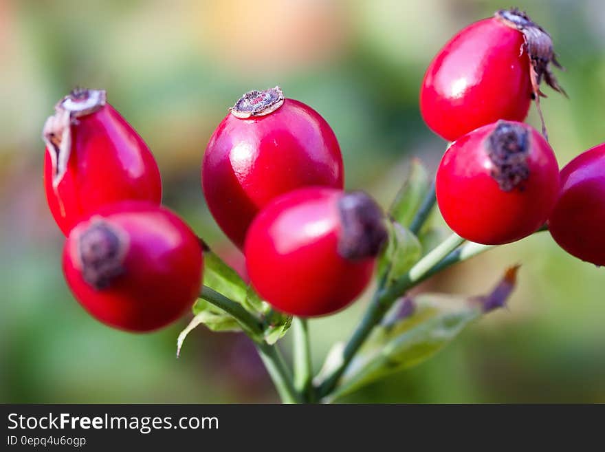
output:
<instances>
[{"instance_id":1,"label":"group of three red rose hips at the right","mask_svg":"<svg viewBox=\"0 0 605 452\"><path fill-rule=\"evenodd\" d=\"M465 239L505 244L548 223L562 248L602 266L605 144L559 174L547 140L519 122L531 98L540 112L540 81L564 93L550 63L560 67L549 34L516 9L461 30L435 56L421 87L421 113L453 141L437 170L437 202Z\"/></svg>"}]
</instances>

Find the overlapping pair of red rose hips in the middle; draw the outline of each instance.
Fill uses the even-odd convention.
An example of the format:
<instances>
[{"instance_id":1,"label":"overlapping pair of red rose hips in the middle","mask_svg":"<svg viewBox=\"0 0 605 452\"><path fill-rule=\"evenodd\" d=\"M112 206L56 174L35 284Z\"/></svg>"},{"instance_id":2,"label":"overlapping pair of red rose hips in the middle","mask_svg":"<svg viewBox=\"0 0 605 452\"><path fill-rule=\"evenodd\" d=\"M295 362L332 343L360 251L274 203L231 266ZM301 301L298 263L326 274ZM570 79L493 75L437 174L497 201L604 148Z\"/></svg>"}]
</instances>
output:
<instances>
[{"instance_id":1,"label":"overlapping pair of red rose hips in the middle","mask_svg":"<svg viewBox=\"0 0 605 452\"><path fill-rule=\"evenodd\" d=\"M279 87L244 94L212 134L201 167L210 212L244 251L248 275L276 309L318 316L371 281L386 239L380 208L344 193L331 127Z\"/></svg>"}]
</instances>

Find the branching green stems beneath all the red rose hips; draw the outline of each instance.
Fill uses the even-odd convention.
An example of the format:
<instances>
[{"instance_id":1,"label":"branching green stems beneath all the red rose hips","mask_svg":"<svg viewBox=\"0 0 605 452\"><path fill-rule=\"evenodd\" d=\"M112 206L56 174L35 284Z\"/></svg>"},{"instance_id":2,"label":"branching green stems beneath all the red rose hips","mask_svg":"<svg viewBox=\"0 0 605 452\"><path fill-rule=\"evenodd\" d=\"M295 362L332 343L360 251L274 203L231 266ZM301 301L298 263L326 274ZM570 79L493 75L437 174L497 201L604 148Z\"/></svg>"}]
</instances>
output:
<instances>
[{"instance_id":1,"label":"branching green stems beneath all the red rose hips","mask_svg":"<svg viewBox=\"0 0 605 452\"><path fill-rule=\"evenodd\" d=\"M412 220L410 225L412 233L419 233L432 212L435 202L433 184ZM255 341L256 349L281 400L285 403L314 403L326 400L336 389L351 360L370 336L374 327L380 324L386 312L391 309L398 299L404 296L408 290L437 272L445 270L454 263L470 259L489 248L493 248L493 246L466 242L465 239L453 233L415 263L404 276L389 284L384 279L379 281L362 321L355 328L344 347L342 360L340 360L336 369L333 369L331 374L323 378L318 384L314 384L307 319L300 317L293 319L293 370L287 365L277 344L269 345L263 340ZM257 337L263 336L263 325L259 319L256 319L254 315L250 314L236 301L232 301L206 286L203 287L200 297L234 316L239 323L245 325L245 330L258 333L255 334Z\"/></svg>"}]
</instances>

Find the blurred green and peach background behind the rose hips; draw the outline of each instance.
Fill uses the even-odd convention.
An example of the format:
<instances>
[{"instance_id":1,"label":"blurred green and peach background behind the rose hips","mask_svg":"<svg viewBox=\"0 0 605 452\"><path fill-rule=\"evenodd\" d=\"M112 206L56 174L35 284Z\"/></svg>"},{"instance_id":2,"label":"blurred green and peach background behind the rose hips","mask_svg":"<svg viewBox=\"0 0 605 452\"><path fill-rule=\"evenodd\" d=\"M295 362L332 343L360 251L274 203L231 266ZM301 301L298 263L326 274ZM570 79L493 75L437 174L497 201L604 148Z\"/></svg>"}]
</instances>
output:
<instances>
[{"instance_id":1,"label":"blurred green and peach background behind the rose hips","mask_svg":"<svg viewBox=\"0 0 605 452\"><path fill-rule=\"evenodd\" d=\"M243 92L281 85L325 116L347 186L386 206L411 156L434 171L445 143L419 115L423 71L467 23L507 3L479 0L0 0L0 402L275 402L247 338L111 330L72 299L63 236L42 188L41 129L76 85L109 101L149 144L164 202L226 259L241 259L199 187L203 149ZM516 1L553 35L569 100L542 107L560 164L605 140L605 3ZM529 122L538 125L535 107ZM437 221L439 221L437 219ZM426 283L479 294L522 263L509 308L427 363L349 402L605 402L603 270L549 235L498 248ZM366 301L311 322L319 367ZM287 340L282 343L288 352Z\"/></svg>"}]
</instances>

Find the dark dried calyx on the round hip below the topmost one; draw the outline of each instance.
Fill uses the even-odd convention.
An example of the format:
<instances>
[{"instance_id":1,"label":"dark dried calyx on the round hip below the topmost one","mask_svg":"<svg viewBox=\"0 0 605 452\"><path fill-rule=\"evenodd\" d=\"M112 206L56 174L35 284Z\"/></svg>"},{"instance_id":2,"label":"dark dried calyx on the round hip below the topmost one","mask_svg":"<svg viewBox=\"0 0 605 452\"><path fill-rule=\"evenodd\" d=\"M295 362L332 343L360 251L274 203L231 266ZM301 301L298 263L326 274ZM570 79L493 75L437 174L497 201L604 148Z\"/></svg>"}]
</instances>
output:
<instances>
[{"instance_id":1,"label":"dark dried calyx on the round hip below the topmost one","mask_svg":"<svg viewBox=\"0 0 605 452\"><path fill-rule=\"evenodd\" d=\"M522 182L529 177L528 140L525 127L507 121L498 121L496 129L487 137L485 151L493 164L490 174L500 190L523 190Z\"/></svg>"}]
</instances>

